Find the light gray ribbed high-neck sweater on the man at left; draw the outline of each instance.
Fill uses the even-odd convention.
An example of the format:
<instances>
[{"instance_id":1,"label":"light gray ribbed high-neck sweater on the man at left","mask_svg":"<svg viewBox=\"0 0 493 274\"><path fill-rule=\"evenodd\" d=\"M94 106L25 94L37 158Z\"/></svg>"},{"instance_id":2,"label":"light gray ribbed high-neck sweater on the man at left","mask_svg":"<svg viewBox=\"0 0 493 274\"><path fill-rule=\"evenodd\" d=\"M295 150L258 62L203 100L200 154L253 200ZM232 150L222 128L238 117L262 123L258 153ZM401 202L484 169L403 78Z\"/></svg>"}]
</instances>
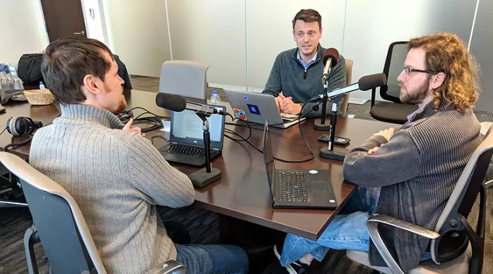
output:
<instances>
[{"instance_id":1,"label":"light gray ribbed high-neck sweater on the man at left","mask_svg":"<svg viewBox=\"0 0 493 274\"><path fill-rule=\"evenodd\" d=\"M61 108L62 116L34 135L29 161L77 201L108 273L155 273L176 260L156 205L193 203L190 179L149 140L121 130L114 114Z\"/></svg>"}]
</instances>

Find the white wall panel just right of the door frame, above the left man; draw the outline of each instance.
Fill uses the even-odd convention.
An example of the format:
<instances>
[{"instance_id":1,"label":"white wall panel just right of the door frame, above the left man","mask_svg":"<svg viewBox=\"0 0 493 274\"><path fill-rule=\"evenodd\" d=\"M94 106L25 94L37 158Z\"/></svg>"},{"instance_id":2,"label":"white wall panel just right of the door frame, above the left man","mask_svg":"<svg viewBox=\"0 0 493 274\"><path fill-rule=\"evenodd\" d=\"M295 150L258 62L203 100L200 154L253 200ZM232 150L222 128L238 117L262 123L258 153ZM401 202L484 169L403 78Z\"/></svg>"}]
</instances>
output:
<instances>
[{"instance_id":1,"label":"white wall panel just right of the door frame, above the left man","mask_svg":"<svg viewBox=\"0 0 493 274\"><path fill-rule=\"evenodd\" d=\"M103 0L108 46L129 74L159 77L170 60L164 0Z\"/></svg>"}]
</instances>

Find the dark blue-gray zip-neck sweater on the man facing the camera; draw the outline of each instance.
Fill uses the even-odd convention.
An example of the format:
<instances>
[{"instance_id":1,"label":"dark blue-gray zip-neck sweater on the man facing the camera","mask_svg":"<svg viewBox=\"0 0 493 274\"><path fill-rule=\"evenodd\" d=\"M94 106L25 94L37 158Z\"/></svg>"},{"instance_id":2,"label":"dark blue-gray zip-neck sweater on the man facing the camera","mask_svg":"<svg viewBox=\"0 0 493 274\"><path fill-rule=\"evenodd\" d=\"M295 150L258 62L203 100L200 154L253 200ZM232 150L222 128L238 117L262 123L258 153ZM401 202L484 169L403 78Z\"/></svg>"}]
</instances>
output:
<instances>
[{"instance_id":1,"label":"dark blue-gray zip-neck sweater on the man facing the camera","mask_svg":"<svg viewBox=\"0 0 493 274\"><path fill-rule=\"evenodd\" d=\"M316 60L306 70L296 58L298 54L297 48L279 53L262 93L277 97L282 91L286 97L291 96L294 103L305 103L312 97L323 94L324 88L321 81L324 69L322 61L324 53L325 49L318 44ZM346 61L342 55L339 55L338 63L331 69L331 74L329 75L328 90L343 86L346 86ZM303 108L303 114L306 115L312 110L312 106L317 104L307 103ZM331 113L331 106L332 103L327 102L326 114ZM339 111L339 115L341 113ZM312 111L307 116L317 117L321 114L322 106L320 105L318 111Z\"/></svg>"}]
</instances>

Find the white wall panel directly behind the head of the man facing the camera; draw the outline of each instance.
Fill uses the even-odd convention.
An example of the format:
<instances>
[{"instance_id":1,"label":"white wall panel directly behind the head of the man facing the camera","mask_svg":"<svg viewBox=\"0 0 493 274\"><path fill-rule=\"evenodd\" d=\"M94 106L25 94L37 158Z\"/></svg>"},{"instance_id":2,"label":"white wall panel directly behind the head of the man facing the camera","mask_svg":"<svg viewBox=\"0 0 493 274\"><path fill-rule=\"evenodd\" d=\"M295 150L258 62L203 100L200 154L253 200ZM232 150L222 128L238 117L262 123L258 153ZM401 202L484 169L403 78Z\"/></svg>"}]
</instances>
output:
<instances>
[{"instance_id":1,"label":"white wall panel directly behind the head of the man facing the camera","mask_svg":"<svg viewBox=\"0 0 493 274\"><path fill-rule=\"evenodd\" d=\"M322 16L320 45L342 49L346 0L247 0L248 86L263 90L276 56L296 47L292 19L299 10L312 8ZM342 52L341 52L342 53Z\"/></svg>"}]
</instances>

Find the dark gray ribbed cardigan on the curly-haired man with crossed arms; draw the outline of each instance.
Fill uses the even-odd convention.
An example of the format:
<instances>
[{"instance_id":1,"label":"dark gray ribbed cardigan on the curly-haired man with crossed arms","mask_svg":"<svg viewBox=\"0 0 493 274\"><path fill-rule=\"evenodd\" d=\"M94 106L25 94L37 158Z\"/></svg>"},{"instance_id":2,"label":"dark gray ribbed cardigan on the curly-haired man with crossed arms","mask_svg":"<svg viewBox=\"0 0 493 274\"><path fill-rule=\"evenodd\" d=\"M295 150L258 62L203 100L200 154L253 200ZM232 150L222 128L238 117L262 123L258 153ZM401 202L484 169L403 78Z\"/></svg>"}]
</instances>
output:
<instances>
[{"instance_id":1,"label":"dark gray ribbed cardigan on the curly-haired man with crossed arms","mask_svg":"<svg viewBox=\"0 0 493 274\"><path fill-rule=\"evenodd\" d=\"M372 136L344 160L344 178L358 186L379 187L377 213L434 230L468 160L481 143L481 125L471 109L457 111L429 103L387 142ZM377 153L368 150L380 147ZM405 272L418 266L429 239L403 229L379 229L390 253ZM385 266L375 245L372 265Z\"/></svg>"}]
</instances>

